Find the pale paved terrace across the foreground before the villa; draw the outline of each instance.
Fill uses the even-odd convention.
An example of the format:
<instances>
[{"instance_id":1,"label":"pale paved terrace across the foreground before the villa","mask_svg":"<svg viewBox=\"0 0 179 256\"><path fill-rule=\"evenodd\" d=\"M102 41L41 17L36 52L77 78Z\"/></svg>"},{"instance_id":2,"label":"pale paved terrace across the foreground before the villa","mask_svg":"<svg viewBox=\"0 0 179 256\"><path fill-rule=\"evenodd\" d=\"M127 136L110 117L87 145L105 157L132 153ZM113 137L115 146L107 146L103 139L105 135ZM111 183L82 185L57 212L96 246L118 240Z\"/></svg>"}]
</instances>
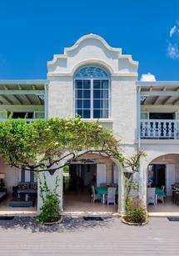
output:
<instances>
[{"instance_id":1,"label":"pale paved terrace across the foreground before the villa","mask_svg":"<svg viewBox=\"0 0 179 256\"><path fill-rule=\"evenodd\" d=\"M179 255L179 222L150 218L144 227L119 218L85 222L65 217L51 228L33 218L0 221L0 255Z\"/></svg>"}]
</instances>

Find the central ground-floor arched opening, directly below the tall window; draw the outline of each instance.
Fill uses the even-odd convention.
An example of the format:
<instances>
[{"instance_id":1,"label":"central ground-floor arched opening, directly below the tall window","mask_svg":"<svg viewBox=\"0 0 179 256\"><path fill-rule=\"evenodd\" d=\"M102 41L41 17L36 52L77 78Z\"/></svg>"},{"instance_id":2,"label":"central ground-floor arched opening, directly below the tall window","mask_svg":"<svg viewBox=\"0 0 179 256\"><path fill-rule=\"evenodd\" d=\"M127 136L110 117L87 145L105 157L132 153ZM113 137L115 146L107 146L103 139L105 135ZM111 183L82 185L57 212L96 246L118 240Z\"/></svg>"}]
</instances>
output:
<instances>
[{"instance_id":1,"label":"central ground-floor arched opening, directly below the tall window","mask_svg":"<svg viewBox=\"0 0 179 256\"><path fill-rule=\"evenodd\" d=\"M69 161L69 167L63 170L63 210L72 213L117 212L118 173L112 159L98 154L86 154L76 162ZM113 203L107 202L109 188L114 191Z\"/></svg>"}]
</instances>

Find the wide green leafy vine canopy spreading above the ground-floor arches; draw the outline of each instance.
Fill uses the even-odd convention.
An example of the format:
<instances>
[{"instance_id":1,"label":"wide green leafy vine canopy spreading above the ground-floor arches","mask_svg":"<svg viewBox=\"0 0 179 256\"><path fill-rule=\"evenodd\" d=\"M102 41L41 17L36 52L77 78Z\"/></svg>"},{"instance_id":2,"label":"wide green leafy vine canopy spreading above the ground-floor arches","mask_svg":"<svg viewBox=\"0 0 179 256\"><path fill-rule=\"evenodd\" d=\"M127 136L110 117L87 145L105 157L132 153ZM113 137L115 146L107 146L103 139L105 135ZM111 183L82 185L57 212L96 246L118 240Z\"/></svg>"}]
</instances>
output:
<instances>
[{"instance_id":1,"label":"wide green leafy vine canopy spreading above the ground-floor arches","mask_svg":"<svg viewBox=\"0 0 179 256\"><path fill-rule=\"evenodd\" d=\"M29 171L57 170L61 161L84 153L100 153L123 161L119 142L97 121L51 118L27 123L25 119L0 122L0 155L8 164ZM57 166L58 164L58 166Z\"/></svg>"}]
</instances>

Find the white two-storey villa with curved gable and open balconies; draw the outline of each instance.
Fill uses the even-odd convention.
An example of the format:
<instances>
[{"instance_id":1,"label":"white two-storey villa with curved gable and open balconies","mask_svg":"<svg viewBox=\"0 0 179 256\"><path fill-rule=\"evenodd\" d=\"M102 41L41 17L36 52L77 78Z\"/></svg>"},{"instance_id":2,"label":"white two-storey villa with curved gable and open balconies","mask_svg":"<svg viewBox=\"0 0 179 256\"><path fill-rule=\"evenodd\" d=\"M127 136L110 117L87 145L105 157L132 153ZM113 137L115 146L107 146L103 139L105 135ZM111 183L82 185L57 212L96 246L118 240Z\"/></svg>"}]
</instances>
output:
<instances>
[{"instance_id":1,"label":"white two-storey villa with curved gable and open balconies","mask_svg":"<svg viewBox=\"0 0 179 256\"><path fill-rule=\"evenodd\" d=\"M131 55L122 54L121 48L112 48L95 34L85 35L47 62L47 80L0 81L0 119L8 118L11 112L12 118L27 113L27 121L57 116L72 118L77 114L84 120L98 119L120 138L126 156L137 150L147 153L140 166L140 198L147 204L147 187L151 185L163 188L167 195L165 203L149 206L149 211L179 213L179 206L171 201L172 184L179 182L179 81L140 82L138 65ZM97 155L87 156L82 163L71 163L68 184L71 193L67 197L62 170L57 172L61 176L59 193L64 211L77 211L80 207L83 211L84 205L88 211L113 209L111 205L107 208L102 203L91 203L86 191L92 183L95 186L117 183L116 210L122 212L122 171L112 159ZM82 183L77 183L79 177ZM12 170L1 159L0 178L7 188L7 199L0 203L0 213L1 210L20 213L22 208L6 209L12 187L19 182L34 182L35 177Z\"/></svg>"}]
</instances>

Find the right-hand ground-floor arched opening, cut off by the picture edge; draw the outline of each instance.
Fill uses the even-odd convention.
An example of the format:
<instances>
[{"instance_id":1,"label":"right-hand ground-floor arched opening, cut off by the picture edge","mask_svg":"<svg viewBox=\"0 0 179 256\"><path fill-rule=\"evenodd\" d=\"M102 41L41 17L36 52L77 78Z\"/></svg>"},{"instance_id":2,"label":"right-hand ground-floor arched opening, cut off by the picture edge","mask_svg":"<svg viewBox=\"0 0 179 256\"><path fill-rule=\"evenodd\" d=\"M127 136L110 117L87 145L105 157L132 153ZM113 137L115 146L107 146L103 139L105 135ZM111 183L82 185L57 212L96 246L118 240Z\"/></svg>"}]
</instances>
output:
<instances>
[{"instance_id":1,"label":"right-hand ground-floor arched opening, cut off by the picture edge","mask_svg":"<svg viewBox=\"0 0 179 256\"><path fill-rule=\"evenodd\" d=\"M179 154L171 153L153 159L147 167L149 213L179 213L175 188L179 192Z\"/></svg>"}]
</instances>

